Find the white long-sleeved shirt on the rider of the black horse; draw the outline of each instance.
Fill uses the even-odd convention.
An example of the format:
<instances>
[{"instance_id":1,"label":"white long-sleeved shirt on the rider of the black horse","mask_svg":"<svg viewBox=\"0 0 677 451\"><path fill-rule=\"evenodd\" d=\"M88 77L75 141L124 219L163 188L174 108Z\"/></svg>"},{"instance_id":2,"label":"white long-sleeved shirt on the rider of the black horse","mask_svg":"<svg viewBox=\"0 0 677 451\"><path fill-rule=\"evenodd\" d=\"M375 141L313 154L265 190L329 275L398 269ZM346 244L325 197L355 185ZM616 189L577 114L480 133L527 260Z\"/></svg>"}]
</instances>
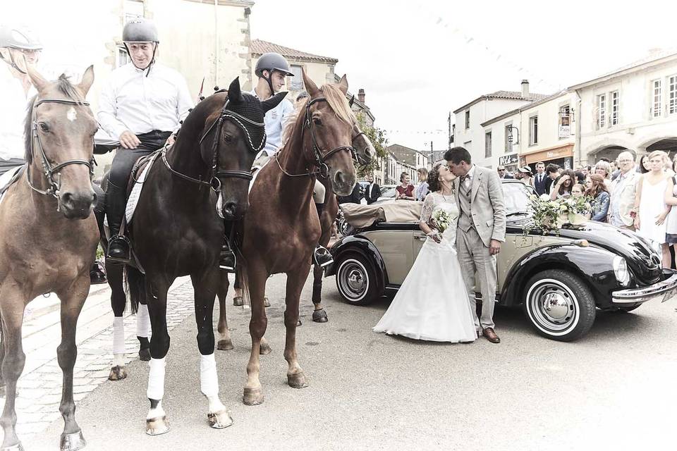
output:
<instances>
[{"instance_id":1,"label":"white long-sleeved shirt on the rider of the black horse","mask_svg":"<svg viewBox=\"0 0 677 451\"><path fill-rule=\"evenodd\" d=\"M111 137L126 130L176 132L193 108L183 75L158 63L146 73L128 63L114 70L102 89L97 118Z\"/></svg>"}]
</instances>

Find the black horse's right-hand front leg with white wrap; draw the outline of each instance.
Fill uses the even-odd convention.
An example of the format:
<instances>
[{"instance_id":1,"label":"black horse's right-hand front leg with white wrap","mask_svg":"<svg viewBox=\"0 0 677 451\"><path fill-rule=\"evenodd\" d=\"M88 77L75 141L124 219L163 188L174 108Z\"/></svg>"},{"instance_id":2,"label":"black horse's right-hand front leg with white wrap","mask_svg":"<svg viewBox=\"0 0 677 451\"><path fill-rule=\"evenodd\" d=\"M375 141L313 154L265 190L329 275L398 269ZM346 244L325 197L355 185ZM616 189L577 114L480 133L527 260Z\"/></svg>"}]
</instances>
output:
<instances>
[{"instance_id":1,"label":"black horse's right-hand front leg with white wrap","mask_svg":"<svg viewBox=\"0 0 677 451\"><path fill-rule=\"evenodd\" d=\"M224 277L214 268L202 277L190 276L195 289L195 322L197 323L197 347L200 350L200 391L209 402L207 419L209 426L223 429L233 424L233 419L219 399L219 378L216 376L214 359L214 298Z\"/></svg>"}]
</instances>

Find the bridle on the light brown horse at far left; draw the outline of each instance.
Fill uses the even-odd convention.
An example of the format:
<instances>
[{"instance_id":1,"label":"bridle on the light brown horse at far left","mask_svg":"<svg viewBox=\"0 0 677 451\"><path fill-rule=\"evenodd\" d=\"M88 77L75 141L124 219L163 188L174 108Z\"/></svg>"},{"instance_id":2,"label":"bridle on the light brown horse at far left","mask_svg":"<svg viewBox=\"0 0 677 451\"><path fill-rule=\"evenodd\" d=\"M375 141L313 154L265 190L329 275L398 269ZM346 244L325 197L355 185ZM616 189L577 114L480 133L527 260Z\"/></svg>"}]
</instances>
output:
<instances>
[{"instance_id":1,"label":"bridle on the light brown horse at far left","mask_svg":"<svg viewBox=\"0 0 677 451\"><path fill-rule=\"evenodd\" d=\"M44 153L44 148L42 147L42 140L40 139L40 135L37 132L37 107L42 105L42 104L65 104L65 105L75 105L75 106L90 106L90 104L86 101L81 101L81 100L69 100L69 99L42 99L35 104L33 104L33 112L32 112L32 117L31 117L31 132L32 132L32 139L30 140L30 154L35 158L35 153L33 149L33 141L37 140L37 148L40 151L40 156L42 157L42 168L44 170L44 177L47 178L47 183L49 184L49 188L47 190L39 190L36 188L32 180L30 178L30 165L27 165L27 173L26 173L26 180L28 180L28 185L30 185L31 189L35 192L38 192L39 194L43 194L45 196L53 196L56 199L59 199L59 189L61 188L61 178L59 178L59 183L56 183L56 180L54 180L54 174L59 174L61 175L61 169L65 168L66 166L70 166L71 164L81 164L83 166L87 166L87 168L90 168L90 180L94 177L94 164L96 163L94 161L94 156L92 156L92 159L90 161L86 160L81 160L81 159L75 159L75 160L68 160L68 161L63 161L63 163L58 163L54 166L49 163L49 160L47 159L47 154ZM92 149L94 148L94 140L92 138Z\"/></svg>"}]
</instances>

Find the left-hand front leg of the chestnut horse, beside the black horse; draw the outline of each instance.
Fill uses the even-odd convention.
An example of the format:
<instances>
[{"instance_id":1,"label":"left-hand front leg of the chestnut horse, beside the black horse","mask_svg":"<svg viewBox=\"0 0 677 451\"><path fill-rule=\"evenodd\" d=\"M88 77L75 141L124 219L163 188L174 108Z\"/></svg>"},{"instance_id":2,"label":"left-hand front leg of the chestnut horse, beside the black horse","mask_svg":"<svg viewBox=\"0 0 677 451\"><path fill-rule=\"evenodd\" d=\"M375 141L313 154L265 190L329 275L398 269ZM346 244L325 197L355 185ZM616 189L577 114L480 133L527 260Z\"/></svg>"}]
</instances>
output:
<instances>
[{"instance_id":1,"label":"left-hand front leg of the chestnut horse, beside the black horse","mask_svg":"<svg viewBox=\"0 0 677 451\"><path fill-rule=\"evenodd\" d=\"M247 405L256 405L263 402L263 389L259 381L260 372L260 346L268 319L263 305L263 297L266 290L268 273L262 265L255 265L250 261L247 270L249 276L249 291L252 299L252 319L249 322L249 333L252 337L252 352L247 364L247 383L245 383L242 402Z\"/></svg>"}]
</instances>

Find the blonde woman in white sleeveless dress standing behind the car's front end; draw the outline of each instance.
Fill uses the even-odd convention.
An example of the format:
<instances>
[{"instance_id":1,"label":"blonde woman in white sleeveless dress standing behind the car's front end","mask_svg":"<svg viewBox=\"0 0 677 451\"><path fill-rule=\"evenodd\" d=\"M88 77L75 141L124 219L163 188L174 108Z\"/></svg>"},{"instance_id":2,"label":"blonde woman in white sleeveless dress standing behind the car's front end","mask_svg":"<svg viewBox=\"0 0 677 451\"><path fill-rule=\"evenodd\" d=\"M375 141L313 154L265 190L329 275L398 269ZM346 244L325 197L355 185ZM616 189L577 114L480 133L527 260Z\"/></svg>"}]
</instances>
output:
<instances>
[{"instance_id":1,"label":"blonde woman in white sleeveless dress standing behind the car's front end","mask_svg":"<svg viewBox=\"0 0 677 451\"><path fill-rule=\"evenodd\" d=\"M635 197L635 229L637 233L661 245L663 266L670 267L670 249L666 243L666 218L671 205L666 205L670 176L664 169L664 154L659 150L649 154L651 171L640 176Z\"/></svg>"}]
</instances>

